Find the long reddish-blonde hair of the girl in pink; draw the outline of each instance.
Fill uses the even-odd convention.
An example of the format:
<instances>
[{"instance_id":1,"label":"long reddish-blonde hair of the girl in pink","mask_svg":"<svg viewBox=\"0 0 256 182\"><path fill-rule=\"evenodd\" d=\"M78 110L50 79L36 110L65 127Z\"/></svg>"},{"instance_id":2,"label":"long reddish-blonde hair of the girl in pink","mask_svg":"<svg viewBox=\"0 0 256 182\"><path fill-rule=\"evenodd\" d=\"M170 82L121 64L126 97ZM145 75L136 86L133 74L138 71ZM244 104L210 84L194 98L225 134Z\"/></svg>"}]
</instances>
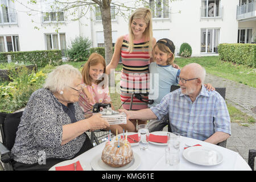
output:
<instances>
[{"instance_id":1,"label":"long reddish-blonde hair of the girl in pink","mask_svg":"<svg viewBox=\"0 0 256 182\"><path fill-rule=\"evenodd\" d=\"M101 80L97 80L96 83L99 84L100 82L104 81L104 85L108 84L108 78L105 76L106 75L106 62L104 57L102 57L100 54L98 53L92 53L90 55L90 57L88 58L88 61L85 63L84 68L82 68L82 81L84 82L84 84L86 85L92 85L92 78L89 75L89 70L90 67L97 65L101 63L104 66L104 75L101 78ZM104 85L102 88L104 88Z\"/></svg>"}]
</instances>

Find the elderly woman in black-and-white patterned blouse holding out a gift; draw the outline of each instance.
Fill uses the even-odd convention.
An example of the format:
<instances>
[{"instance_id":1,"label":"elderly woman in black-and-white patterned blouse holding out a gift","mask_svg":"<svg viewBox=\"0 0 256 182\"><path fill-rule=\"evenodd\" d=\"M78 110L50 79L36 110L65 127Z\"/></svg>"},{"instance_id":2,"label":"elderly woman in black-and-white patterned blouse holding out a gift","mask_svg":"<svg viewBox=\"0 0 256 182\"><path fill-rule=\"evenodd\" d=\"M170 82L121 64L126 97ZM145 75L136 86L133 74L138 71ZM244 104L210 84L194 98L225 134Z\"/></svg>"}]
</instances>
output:
<instances>
[{"instance_id":1,"label":"elderly woman in black-and-white patterned blouse holding out a gift","mask_svg":"<svg viewBox=\"0 0 256 182\"><path fill-rule=\"evenodd\" d=\"M84 118L77 103L81 82L79 70L65 64L32 93L11 150L14 170L47 170L73 159L93 147L85 131L109 127L100 114Z\"/></svg>"}]
</instances>

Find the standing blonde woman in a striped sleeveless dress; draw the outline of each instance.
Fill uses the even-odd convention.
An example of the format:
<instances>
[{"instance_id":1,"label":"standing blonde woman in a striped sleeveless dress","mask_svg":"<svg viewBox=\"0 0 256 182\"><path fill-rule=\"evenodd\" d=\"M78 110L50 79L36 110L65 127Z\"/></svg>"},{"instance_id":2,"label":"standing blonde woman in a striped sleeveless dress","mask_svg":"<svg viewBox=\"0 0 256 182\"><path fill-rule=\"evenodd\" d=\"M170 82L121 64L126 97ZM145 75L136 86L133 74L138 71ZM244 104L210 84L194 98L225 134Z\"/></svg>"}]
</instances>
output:
<instances>
[{"instance_id":1,"label":"standing blonde woman in a striped sleeveless dress","mask_svg":"<svg viewBox=\"0 0 256 182\"><path fill-rule=\"evenodd\" d=\"M152 16L150 9L139 8L134 11L129 19L129 34L123 35L115 43L114 55L106 67L106 73L115 69L120 56L123 69L121 73L120 90L123 109L130 109L131 93L149 92L149 65L152 47L156 43L152 36ZM148 97L144 97L148 99ZM133 98L132 110L147 108L147 104ZM137 120L131 120L136 126ZM145 123L138 119L138 125Z\"/></svg>"}]
</instances>

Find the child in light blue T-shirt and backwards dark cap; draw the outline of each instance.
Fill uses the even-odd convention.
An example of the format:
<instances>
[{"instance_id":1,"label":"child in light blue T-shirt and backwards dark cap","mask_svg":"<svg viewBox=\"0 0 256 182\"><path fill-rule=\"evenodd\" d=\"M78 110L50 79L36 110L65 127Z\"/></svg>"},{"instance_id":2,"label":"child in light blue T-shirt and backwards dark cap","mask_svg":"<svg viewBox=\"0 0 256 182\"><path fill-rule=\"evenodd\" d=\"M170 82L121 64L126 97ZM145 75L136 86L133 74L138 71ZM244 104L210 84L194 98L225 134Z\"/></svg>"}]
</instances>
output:
<instances>
[{"instance_id":1,"label":"child in light blue T-shirt and backwards dark cap","mask_svg":"<svg viewBox=\"0 0 256 182\"><path fill-rule=\"evenodd\" d=\"M151 82L148 98L154 100L154 103L148 105L148 107L160 104L162 98L170 93L171 85L177 85L179 83L177 76L180 75L180 68L174 64L174 51L174 43L169 39L158 40L153 48L155 62L150 64ZM205 84L205 87L208 90L214 90L210 84ZM160 122L158 119L151 119L148 123L150 132L162 131L163 127L166 126L164 119L166 118L163 118Z\"/></svg>"}]
</instances>

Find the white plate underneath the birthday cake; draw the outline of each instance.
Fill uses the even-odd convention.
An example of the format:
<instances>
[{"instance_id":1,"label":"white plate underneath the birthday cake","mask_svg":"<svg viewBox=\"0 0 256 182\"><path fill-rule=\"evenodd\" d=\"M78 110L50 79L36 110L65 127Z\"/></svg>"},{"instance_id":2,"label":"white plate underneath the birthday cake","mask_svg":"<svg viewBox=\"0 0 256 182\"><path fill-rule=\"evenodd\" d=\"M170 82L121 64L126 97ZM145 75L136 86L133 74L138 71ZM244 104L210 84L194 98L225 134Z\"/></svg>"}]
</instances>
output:
<instances>
[{"instance_id":1,"label":"white plate underneath the birthday cake","mask_svg":"<svg viewBox=\"0 0 256 182\"><path fill-rule=\"evenodd\" d=\"M101 154L95 156L90 163L94 171L134 171L141 164L141 158L133 152L133 160L123 167L111 167L101 160Z\"/></svg>"}]
</instances>

